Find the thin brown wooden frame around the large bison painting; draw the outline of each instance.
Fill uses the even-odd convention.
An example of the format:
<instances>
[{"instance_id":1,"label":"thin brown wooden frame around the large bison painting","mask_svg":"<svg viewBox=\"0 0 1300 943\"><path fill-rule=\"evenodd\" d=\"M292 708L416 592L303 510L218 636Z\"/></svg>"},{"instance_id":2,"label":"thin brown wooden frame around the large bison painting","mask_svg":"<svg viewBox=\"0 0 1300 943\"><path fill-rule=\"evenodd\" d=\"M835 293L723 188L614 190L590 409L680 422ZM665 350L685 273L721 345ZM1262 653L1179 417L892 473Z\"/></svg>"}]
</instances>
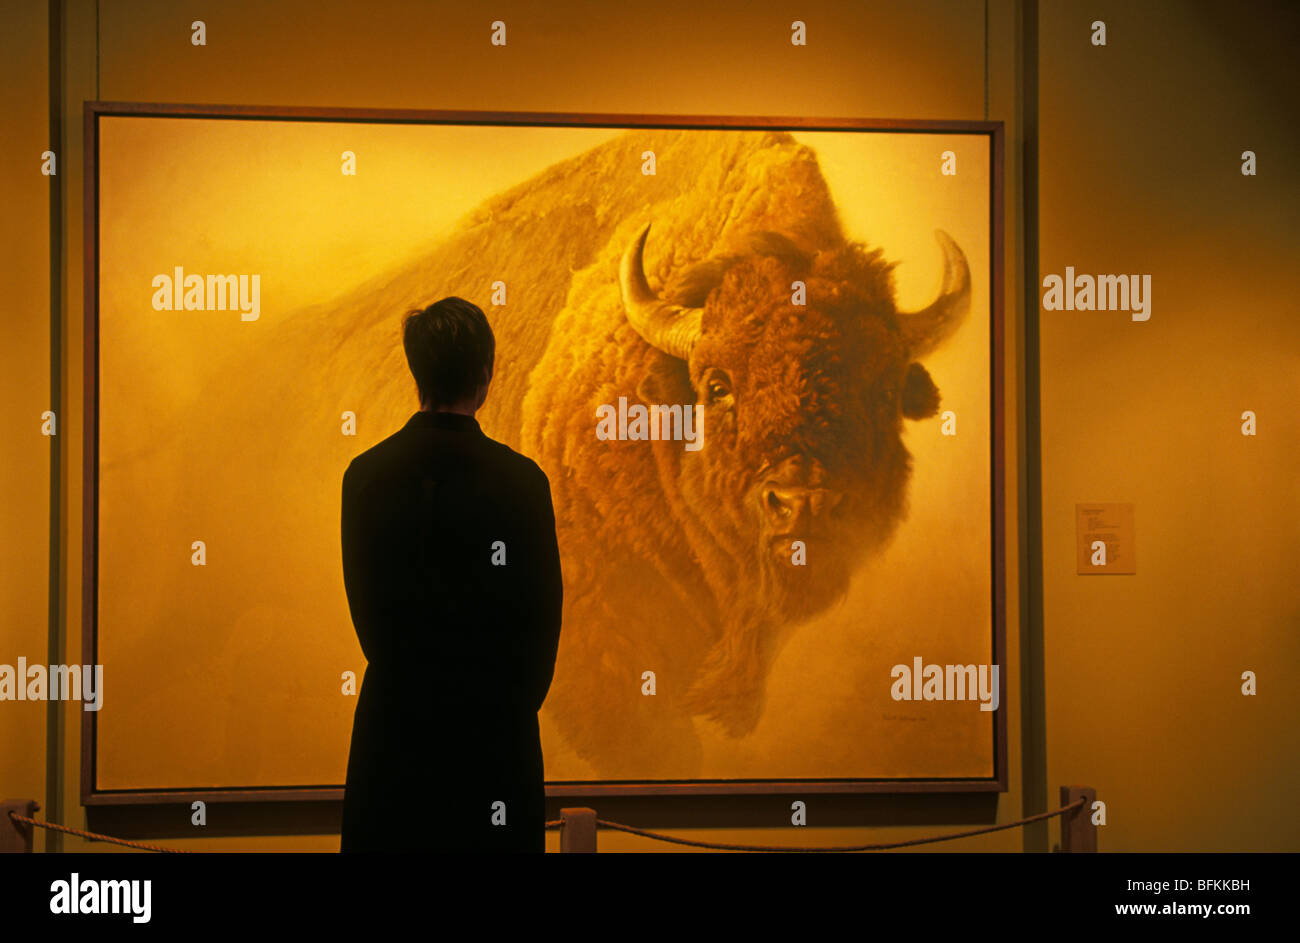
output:
<instances>
[{"instance_id":1,"label":"thin brown wooden frame around the large bison painting","mask_svg":"<svg viewBox=\"0 0 1300 943\"><path fill-rule=\"evenodd\" d=\"M104 117L161 117L208 121L365 122L390 125L502 125L606 129L789 130L972 135L987 142L988 187L988 468L992 516L988 561L992 588L989 653L1002 667L1000 706L992 718L992 775L985 778L889 779L745 779L745 780L582 780L549 782L549 796L650 795L776 795L776 793L957 793L1001 792L1008 788L1008 678L1006 678L1006 562L1004 479L1004 129L989 121L902 121L812 117L736 117L670 114L581 114L550 112L455 112L364 108L295 108L280 105L203 105L88 101L84 108L84 488L82 553L82 661L98 663L99 549L100 549L100 120ZM982 144L983 146L983 144ZM979 316L982 312L974 312ZM116 692L109 685L109 693ZM121 695L116 695L121 696ZM84 805L130 805L203 801L337 801L341 784L286 784L283 787L230 788L103 788L96 778L99 714L82 714L81 797Z\"/></svg>"}]
</instances>

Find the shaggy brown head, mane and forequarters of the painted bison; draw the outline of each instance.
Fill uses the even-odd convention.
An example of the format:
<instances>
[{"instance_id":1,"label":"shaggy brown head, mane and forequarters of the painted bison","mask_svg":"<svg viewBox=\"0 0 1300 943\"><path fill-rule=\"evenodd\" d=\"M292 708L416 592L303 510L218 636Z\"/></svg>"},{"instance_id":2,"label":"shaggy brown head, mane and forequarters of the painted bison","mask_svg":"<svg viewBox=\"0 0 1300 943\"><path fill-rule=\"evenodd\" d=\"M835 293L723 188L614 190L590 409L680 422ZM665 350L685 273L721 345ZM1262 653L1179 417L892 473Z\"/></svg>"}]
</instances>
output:
<instances>
[{"instance_id":1,"label":"shaggy brown head, mane and forequarters of the painted bison","mask_svg":"<svg viewBox=\"0 0 1300 943\"><path fill-rule=\"evenodd\" d=\"M673 159L733 169L620 219L554 312L521 410L485 415L551 479L568 602L549 709L606 769L694 766L697 715L754 730L783 636L842 597L902 519L902 424L940 401L916 358L970 307L966 258L940 233L937 298L900 312L890 265L844 238L815 155L788 135L686 147ZM520 346L514 328L499 310L500 349ZM619 397L694 405L703 449L599 441L594 416Z\"/></svg>"}]
</instances>

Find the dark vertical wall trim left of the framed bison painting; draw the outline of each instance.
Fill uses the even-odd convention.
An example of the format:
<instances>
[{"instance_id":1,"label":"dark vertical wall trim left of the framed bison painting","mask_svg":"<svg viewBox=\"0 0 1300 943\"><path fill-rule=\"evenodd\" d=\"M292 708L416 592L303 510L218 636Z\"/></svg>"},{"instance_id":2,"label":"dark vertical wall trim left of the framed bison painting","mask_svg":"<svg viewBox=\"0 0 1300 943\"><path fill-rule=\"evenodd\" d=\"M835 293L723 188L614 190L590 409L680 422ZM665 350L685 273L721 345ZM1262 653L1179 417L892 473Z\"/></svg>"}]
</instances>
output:
<instances>
[{"instance_id":1,"label":"dark vertical wall trim left of the framed bison painting","mask_svg":"<svg viewBox=\"0 0 1300 943\"><path fill-rule=\"evenodd\" d=\"M49 177L49 410L55 414L55 434L49 437L49 559L48 559L48 623L46 654L49 665L62 665L64 644L64 489L62 441L68 434L64 414L64 178L68 174L68 151L64 148L64 0L49 3L49 150L56 157L56 173ZM64 702L57 697L46 701L46 819L64 821ZM46 852L62 851L62 835L46 832Z\"/></svg>"}]
</instances>

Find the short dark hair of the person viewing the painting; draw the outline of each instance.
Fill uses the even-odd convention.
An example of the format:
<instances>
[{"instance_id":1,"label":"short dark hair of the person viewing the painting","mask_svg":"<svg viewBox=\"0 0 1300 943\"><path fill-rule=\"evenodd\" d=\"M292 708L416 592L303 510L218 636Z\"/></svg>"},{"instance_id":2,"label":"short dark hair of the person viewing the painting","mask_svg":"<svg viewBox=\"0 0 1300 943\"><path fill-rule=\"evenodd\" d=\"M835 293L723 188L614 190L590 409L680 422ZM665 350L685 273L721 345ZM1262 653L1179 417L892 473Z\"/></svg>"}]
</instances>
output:
<instances>
[{"instance_id":1,"label":"short dark hair of the person viewing the painting","mask_svg":"<svg viewBox=\"0 0 1300 943\"><path fill-rule=\"evenodd\" d=\"M420 402L433 408L471 399L497 356L497 339L482 310L456 297L408 311L402 346Z\"/></svg>"}]
</instances>

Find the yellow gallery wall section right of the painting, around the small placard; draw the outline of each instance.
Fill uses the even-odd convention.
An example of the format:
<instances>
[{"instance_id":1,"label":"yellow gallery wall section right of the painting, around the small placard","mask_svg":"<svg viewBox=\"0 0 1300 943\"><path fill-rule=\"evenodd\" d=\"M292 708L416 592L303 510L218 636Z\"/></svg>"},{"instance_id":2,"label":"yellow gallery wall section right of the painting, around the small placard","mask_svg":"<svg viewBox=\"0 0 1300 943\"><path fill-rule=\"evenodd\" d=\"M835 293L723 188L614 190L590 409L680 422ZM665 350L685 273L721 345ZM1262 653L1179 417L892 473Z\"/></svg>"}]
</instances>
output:
<instances>
[{"instance_id":1,"label":"yellow gallery wall section right of the painting, around the small placard","mask_svg":"<svg viewBox=\"0 0 1300 943\"><path fill-rule=\"evenodd\" d=\"M1297 851L1287 31L1256 4L1044 8L1041 272L1152 276L1145 323L1043 312L1048 782L1109 800L1110 851ZM1104 49L1086 42L1093 20ZM1242 176L1245 150L1256 177ZM1138 574L1076 576L1074 505L1112 501L1134 505Z\"/></svg>"}]
</instances>

